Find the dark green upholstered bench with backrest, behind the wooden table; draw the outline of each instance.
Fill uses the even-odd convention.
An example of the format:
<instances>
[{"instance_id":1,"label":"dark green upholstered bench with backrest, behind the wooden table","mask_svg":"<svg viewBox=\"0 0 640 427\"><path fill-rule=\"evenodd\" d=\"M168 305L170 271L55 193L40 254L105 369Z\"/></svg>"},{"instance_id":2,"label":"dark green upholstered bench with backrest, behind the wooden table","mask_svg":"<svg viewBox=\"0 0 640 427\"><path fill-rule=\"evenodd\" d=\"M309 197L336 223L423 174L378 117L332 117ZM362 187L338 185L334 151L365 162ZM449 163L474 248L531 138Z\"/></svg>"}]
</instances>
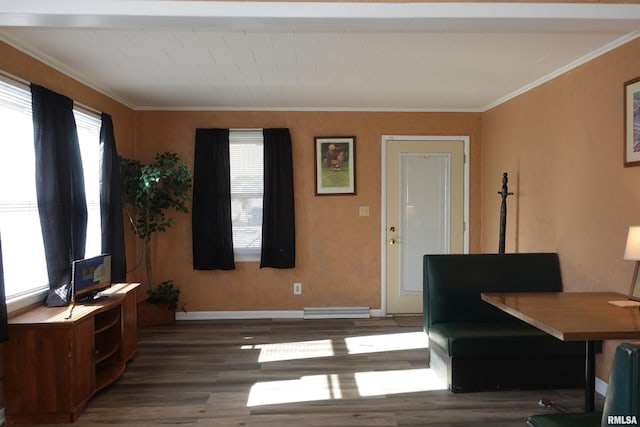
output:
<instances>
[{"instance_id":1,"label":"dark green upholstered bench with backrest, behind the wooden table","mask_svg":"<svg viewBox=\"0 0 640 427\"><path fill-rule=\"evenodd\" d=\"M562 342L482 301L558 292L554 253L424 256L430 367L451 392L584 387L585 345Z\"/></svg>"}]
</instances>

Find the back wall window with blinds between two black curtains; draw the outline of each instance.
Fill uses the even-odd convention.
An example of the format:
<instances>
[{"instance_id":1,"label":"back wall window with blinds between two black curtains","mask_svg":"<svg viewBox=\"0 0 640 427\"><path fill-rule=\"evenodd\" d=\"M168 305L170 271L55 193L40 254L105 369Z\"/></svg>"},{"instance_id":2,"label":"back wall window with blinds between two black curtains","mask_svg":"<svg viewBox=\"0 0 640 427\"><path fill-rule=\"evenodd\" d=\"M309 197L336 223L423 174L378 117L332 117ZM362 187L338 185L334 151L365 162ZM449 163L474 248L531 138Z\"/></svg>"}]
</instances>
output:
<instances>
[{"instance_id":1,"label":"back wall window with blinds between two black curtains","mask_svg":"<svg viewBox=\"0 0 640 427\"><path fill-rule=\"evenodd\" d=\"M261 130L229 131L231 221L236 261L259 261L264 189Z\"/></svg>"}]
</instances>

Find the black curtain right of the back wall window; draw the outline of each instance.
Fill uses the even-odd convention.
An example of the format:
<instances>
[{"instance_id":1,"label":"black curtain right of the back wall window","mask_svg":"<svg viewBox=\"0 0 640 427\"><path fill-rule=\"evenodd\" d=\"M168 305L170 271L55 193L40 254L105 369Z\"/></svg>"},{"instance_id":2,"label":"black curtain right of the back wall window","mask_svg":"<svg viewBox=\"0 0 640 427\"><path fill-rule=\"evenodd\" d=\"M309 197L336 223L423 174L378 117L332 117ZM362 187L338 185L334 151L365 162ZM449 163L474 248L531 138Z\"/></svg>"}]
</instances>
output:
<instances>
[{"instance_id":1,"label":"black curtain right of the back wall window","mask_svg":"<svg viewBox=\"0 0 640 427\"><path fill-rule=\"evenodd\" d=\"M296 230L289 129L264 129L264 205L260 268L293 268Z\"/></svg>"}]
</instances>

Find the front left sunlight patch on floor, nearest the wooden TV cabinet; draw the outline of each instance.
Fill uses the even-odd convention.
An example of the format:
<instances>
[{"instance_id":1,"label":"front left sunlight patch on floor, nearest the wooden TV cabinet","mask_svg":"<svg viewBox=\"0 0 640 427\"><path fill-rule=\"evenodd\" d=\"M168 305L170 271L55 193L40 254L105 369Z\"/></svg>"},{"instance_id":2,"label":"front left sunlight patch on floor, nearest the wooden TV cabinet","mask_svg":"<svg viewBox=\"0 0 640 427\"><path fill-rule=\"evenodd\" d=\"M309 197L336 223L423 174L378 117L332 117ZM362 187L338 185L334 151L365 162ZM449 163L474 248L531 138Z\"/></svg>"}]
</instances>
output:
<instances>
[{"instance_id":1,"label":"front left sunlight patch on floor, nearest the wooden TV cabinet","mask_svg":"<svg viewBox=\"0 0 640 427\"><path fill-rule=\"evenodd\" d=\"M297 380L254 384L247 406L342 399L338 375L310 375Z\"/></svg>"}]
</instances>

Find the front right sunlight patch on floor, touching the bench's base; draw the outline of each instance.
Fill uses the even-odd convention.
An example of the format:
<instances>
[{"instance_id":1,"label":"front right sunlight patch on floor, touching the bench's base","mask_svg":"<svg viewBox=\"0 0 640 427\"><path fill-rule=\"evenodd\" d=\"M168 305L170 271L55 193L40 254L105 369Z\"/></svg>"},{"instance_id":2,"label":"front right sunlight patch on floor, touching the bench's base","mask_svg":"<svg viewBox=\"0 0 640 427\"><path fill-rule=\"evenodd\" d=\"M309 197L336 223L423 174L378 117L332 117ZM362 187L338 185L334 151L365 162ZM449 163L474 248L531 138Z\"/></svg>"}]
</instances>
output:
<instances>
[{"instance_id":1,"label":"front right sunlight patch on floor, touching the bench's base","mask_svg":"<svg viewBox=\"0 0 640 427\"><path fill-rule=\"evenodd\" d=\"M358 391L363 397L417 393L447 388L436 373L429 368L356 372L355 377Z\"/></svg>"}]
</instances>

